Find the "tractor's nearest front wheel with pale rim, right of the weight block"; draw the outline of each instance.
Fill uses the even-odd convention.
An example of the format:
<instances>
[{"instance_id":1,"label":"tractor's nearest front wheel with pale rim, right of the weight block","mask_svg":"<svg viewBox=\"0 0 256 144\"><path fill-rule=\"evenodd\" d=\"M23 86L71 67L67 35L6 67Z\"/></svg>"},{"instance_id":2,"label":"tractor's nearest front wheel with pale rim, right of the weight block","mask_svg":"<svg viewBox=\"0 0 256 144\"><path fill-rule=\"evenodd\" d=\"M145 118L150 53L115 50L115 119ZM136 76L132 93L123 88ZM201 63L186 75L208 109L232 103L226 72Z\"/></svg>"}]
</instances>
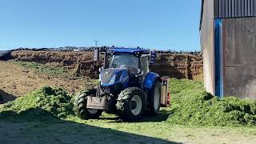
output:
<instances>
[{"instance_id":1,"label":"tractor's nearest front wheel with pale rim, right of the weight block","mask_svg":"<svg viewBox=\"0 0 256 144\"><path fill-rule=\"evenodd\" d=\"M137 87L129 87L118 95L119 116L125 121L136 121L146 111L146 94Z\"/></svg>"}]
</instances>

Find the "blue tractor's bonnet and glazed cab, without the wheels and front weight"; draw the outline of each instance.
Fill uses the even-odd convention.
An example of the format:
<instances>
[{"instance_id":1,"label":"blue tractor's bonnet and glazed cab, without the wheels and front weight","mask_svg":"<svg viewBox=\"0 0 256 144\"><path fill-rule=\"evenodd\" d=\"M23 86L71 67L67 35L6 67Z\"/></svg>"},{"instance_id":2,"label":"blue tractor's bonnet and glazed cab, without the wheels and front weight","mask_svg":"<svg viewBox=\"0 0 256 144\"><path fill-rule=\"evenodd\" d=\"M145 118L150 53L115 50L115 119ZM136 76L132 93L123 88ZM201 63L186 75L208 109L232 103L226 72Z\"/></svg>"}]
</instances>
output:
<instances>
[{"instance_id":1,"label":"blue tractor's bonnet and glazed cab, without the wheels and front weight","mask_svg":"<svg viewBox=\"0 0 256 144\"><path fill-rule=\"evenodd\" d=\"M100 72L102 90L118 94L130 86L141 87L149 72L150 51L141 49L110 49L110 65Z\"/></svg>"}]
</instances>

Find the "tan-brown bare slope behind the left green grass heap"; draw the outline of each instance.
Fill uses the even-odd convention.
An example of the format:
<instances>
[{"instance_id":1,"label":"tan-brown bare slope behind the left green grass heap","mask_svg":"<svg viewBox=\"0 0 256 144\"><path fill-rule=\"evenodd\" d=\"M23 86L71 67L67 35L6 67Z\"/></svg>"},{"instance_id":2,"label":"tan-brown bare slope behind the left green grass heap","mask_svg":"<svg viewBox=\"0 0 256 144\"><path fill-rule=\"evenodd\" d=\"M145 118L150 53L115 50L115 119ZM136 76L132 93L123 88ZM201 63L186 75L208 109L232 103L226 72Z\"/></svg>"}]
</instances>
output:
<instances>
[{"instance_id":1,"label":"tan-brown bare slope behind the left green grass heap","mask_svg":"<svg viewBox=\"0 0 256 144\"><path fill-rule=\"evenodd\" d=\"M14 65L12 62L0 61L0 94L11 99L37 90L42 86L62 87L69 94L83 90L91 82L86 77L50 76Z\"/></svg>"}]
</instances>

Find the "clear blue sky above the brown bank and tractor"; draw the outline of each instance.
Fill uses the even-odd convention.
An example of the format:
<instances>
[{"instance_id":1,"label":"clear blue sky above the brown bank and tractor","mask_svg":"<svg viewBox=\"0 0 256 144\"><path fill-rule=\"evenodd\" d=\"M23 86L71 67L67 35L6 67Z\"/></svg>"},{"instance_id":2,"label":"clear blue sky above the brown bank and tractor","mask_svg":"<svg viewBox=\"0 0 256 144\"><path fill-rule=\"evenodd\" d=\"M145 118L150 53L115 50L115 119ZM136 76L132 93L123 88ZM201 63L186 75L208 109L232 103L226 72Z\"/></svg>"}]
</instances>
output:
<instances>
[{"instance_id":1,"label":"clear blue sky above the brown bank and tractor","mask_svg":"<svg viewBox=\"0 0 256 144\"><path fill-rule=\"evenodd\" d=\"M142 46L200 50L200 0L1 0L0 50Z\"/></svg>"}]
</instances>

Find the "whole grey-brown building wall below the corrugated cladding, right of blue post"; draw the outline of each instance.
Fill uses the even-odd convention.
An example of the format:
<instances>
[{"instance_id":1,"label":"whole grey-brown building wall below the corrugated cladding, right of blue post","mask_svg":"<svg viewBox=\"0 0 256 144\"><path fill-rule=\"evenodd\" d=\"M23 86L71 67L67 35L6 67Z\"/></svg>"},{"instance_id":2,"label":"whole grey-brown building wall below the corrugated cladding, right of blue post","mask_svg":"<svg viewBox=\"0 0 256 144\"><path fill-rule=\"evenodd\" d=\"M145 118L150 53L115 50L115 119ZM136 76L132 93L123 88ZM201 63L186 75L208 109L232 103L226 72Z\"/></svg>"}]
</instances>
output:
<instances>
[{"instance_id":1,"label":"whole grey-brown building wall below the corrugated cladding, right of blue post","mask_svg":"<svg viewBox=\"0 0 256 144\"><path fill-rule=\"evenodd\" d=\"M256 18L222 20L224 95L256 99Z\"/></svg>"}]
</instances>

